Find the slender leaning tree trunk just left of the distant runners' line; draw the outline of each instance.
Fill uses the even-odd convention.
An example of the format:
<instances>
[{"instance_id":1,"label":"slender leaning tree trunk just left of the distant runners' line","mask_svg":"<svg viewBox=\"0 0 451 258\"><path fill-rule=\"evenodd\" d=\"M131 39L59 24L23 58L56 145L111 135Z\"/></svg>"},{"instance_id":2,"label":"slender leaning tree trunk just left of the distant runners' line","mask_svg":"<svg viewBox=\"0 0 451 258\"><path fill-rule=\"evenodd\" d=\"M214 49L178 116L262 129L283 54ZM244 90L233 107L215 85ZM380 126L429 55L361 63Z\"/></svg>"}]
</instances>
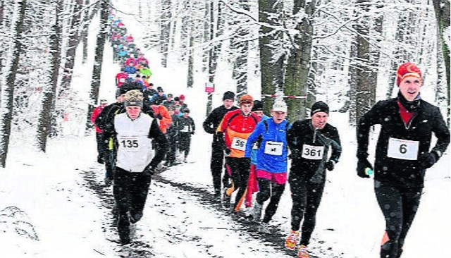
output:
<instances>
[{"instance_id":1,"label":"slender leaning tree trunk just left of the distant runners' line","mask_svg":"<svg viewBox=\"0 0 451 258\"><path fill-rule=\"evenodd\" d=\"M101 67L104 61L104 47L106 36L108 35L108 15L109 15L109 0L101 0L100 5L100 30L97 35L96 50L94 57L94 68L92 69L91 92L89 93L90 104L87 109L86 130L92 127L91 114L94 110L94 104L99 99L99 88L101 78Z\"/></svg>"}]
</instances>

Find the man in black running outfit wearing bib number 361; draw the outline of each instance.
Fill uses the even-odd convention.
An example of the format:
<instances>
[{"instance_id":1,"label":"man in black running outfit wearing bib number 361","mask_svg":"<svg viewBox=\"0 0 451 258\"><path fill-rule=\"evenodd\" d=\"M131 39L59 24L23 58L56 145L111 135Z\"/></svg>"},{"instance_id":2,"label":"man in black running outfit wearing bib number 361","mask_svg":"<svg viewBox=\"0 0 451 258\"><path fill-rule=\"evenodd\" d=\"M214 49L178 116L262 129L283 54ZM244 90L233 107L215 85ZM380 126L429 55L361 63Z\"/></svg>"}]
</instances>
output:
<instances>
[{"instance_id":1,"label":"man in black running outfit wearing bib number 361","mask_svg":"<svg viewBox=\"0 0 451 258\"><path fill-rule=\"evenodd\" d=\"M326 183L326 168L332 171L341 154L337 128L328 120L329 107L324 102L311 106L311 119L295 121L288 130L288 145L291 150L290 190L292 199L291 231L285 247L295 250L299 241L302 219L302 236L297 256L309 257L307 246L316 224L316 211L323 197ZM328 159L329 148L332 154Z\"/></svg>"}]
</instances>

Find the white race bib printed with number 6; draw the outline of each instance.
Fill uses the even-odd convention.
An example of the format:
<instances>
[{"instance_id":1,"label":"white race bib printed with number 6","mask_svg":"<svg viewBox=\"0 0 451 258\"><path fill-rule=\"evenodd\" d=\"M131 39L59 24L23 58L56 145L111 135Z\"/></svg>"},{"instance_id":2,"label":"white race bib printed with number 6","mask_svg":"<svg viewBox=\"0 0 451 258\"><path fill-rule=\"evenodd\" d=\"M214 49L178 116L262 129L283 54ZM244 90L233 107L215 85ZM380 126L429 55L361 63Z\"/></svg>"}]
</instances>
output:
<instances>
[{"instance_id":1,"label":"white race bib printed with number 6","mask_svg":"<svg viewBox=\"0 0 451 258\"><path fill-rule=\"evenodd\" d=\"M388 139L387 156L394 159L416 160L419 141L403 140L390 137Z\"/></svg>"}]
</instances>

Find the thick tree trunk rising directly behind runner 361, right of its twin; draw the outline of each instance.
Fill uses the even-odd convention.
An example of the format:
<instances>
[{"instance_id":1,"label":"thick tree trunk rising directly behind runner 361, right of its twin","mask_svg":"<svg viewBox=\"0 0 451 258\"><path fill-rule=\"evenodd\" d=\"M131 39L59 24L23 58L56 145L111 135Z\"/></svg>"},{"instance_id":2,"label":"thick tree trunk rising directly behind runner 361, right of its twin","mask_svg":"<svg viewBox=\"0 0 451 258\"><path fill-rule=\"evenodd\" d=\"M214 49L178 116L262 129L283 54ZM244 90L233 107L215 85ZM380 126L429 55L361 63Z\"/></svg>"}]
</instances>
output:
<instances>
[{"instance_id":1,"label":"thick tree trunk rising directly behind runner 361, right of its twin","mask_svg":"<svg viewBox=\"0 0 451 258\"><path fill-rule=\"evenodd\" d=\"M305 11L305 17L296 26L299 34L293 39L294 46L292 46L290 57L287 60L285 94L306 97L306 99L287 99L290 121L307 118L309 116L307 109L315 99L313 94L309 94L307 83L311 59L311 37L313 35L313 18L311 16L315 5L315 0L307 5L305 1L295 1L293 7L292 14L294 16L301 16L299 12Z\"/></svg>"}]
</instances>

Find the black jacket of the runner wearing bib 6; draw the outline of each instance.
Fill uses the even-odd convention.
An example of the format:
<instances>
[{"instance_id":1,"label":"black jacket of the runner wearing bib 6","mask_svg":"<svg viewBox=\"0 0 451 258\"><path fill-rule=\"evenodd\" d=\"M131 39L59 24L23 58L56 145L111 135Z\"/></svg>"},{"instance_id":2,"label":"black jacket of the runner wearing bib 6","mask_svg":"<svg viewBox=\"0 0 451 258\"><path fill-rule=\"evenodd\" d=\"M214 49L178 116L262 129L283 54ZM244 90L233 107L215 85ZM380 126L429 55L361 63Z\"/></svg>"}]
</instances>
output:
<instances>
[{"instance_id":1,"label":"black jacket of the runner wearing bib 6","mask_svg":"<svg viewBox=\"0 0 451 258\"><path fill-rule=\"evenodd\" d=\"M357 158L368 156L369 130L376 124L381 125L381 132L376 147L374 179L404 188L423 187L426 169L420 168L418 160L388 157L388 142L390 138L418 142L418 159L421 154L429 152L434 133L437 143L431 151L438 151L439 156L443 154L450 143L450 130L438 107L420 99L418 111L406 126L400 116L397 98L376 103L357 125ZM402 147L399 147L401 151Z\"/></svg>"}]
</instances>

